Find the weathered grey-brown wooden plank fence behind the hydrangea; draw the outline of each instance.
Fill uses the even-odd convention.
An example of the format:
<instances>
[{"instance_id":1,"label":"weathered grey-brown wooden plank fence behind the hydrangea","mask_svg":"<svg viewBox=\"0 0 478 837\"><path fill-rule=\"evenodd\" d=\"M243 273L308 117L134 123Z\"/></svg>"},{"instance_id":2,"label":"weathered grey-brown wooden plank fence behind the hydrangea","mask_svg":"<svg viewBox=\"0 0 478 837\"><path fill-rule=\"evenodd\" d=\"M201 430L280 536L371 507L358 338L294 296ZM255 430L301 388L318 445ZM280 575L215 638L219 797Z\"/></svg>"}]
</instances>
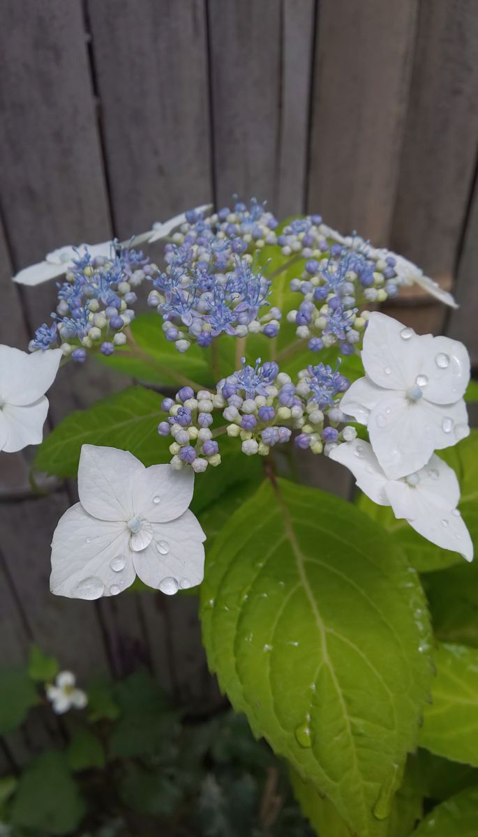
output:
<instances>
[{"instance_id":1,"label":"weathered grey-brown wooden plank fence behind the hydrangea","mask_svg":"<svg viewBox=\"0 0 478 837\"><path fill-rule=\"evenodd\" d=\"M21 267L239 193L280 217L321 212L453 287L458 311L416 291L395 311L460 337L478 364L476 0L0 0L0 12L1 342L25 348L52 309L53 284L12 285ZM69 367L51 421L120 385L93 362ZM194 597L49 595L49 542L73 496L33 496L27 458L0 454L0 665L34 640L82 679L146 665L208 706ZM39 711L0 742L0 771L57 735Z\"/></svg>"}]
</instances>

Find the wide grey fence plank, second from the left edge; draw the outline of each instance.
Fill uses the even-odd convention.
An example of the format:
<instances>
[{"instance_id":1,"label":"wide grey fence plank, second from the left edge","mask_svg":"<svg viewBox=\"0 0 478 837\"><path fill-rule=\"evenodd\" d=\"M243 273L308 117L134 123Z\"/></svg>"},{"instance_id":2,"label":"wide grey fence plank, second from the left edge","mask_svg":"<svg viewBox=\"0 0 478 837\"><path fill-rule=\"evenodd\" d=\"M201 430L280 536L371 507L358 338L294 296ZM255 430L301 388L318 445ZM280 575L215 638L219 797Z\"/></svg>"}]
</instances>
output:
<instances>
[{"instance_id":1,"label":"wide grey fence plank, second from the left edge","mask_svg":"<svg viewBox=\"0 0 478 837\"><path fill-rule=\"evenodd\" d=\"M116 232L212 196L204 0L88 3Z\"/></svg>"}]
</instances>

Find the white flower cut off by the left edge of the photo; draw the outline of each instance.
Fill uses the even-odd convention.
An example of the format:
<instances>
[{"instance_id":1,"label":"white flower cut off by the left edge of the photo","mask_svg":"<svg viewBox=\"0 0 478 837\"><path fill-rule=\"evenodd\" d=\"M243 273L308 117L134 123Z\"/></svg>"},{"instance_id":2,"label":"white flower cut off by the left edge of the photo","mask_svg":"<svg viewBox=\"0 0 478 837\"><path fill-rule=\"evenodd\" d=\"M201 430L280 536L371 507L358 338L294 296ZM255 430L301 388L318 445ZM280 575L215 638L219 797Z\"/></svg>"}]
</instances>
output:
<instances>
[{"instance_id":1,"label":"white flower cut off by the left edge of the photo","mask_svg":"<svg viewBox=\"0 0 478 837\"><path fill-rule=\"evenodd\" d=\"M13 454L40 444L49 408L44 393L62 357L61 349L28 354L0 346L0 450Z\"/></svg>"}]
</instances>

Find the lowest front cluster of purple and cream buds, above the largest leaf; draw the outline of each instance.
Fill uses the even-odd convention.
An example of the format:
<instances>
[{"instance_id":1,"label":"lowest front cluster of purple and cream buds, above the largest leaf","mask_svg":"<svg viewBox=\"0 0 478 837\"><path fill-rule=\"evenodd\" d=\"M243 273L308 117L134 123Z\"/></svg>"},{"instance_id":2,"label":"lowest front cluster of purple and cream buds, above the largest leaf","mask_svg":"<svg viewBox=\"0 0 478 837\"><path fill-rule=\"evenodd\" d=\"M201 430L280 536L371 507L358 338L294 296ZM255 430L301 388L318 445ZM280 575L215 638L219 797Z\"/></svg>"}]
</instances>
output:
<instances>
[{"instance_id":1,"label":"lowest front cluster of purple and cream buds, above the largest leaf","mask_svg":"<svg viewBox=\"0 0 478 837\"><path fill-rule=\"evenodd\" d=\"M172 436L172 466L191 465L198 473L220 464L224 433L237 438L247 456L266 456L294 431L299 448L328 453L357 435L351 426L338 429L346 421L339 404L348 386L347 378L323 363L302 370L292 383L274 361L258 359L253 367L243 357L241 369L219 381L215 393L183 387L176 400L165 398L162 408L169 415L158 433Z\"/></svg>"}]
</instances>

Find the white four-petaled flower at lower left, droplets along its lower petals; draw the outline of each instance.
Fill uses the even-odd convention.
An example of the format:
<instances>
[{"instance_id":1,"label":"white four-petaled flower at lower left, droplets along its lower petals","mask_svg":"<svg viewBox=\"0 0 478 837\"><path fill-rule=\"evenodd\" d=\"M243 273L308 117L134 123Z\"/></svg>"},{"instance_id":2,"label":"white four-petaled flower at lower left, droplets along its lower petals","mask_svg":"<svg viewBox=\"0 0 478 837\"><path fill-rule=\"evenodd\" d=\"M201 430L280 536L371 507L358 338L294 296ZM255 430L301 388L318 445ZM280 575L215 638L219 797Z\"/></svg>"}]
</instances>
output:
<instances>
[{"instance_id":1,"label":"white four-petaled flower at lower left, droplets along its lower petals","mask_svg":"<svg viewBox=\"0 0 478 837\"><path fill-rule=\"evenodd\" d=\"M125 450L84 444L80 502L60 518L52 543L52 593L115 596L133 583L172 595L203 580L206 536L188 510L192 469L145 468Z\"/></svg>"}]
</instances>

